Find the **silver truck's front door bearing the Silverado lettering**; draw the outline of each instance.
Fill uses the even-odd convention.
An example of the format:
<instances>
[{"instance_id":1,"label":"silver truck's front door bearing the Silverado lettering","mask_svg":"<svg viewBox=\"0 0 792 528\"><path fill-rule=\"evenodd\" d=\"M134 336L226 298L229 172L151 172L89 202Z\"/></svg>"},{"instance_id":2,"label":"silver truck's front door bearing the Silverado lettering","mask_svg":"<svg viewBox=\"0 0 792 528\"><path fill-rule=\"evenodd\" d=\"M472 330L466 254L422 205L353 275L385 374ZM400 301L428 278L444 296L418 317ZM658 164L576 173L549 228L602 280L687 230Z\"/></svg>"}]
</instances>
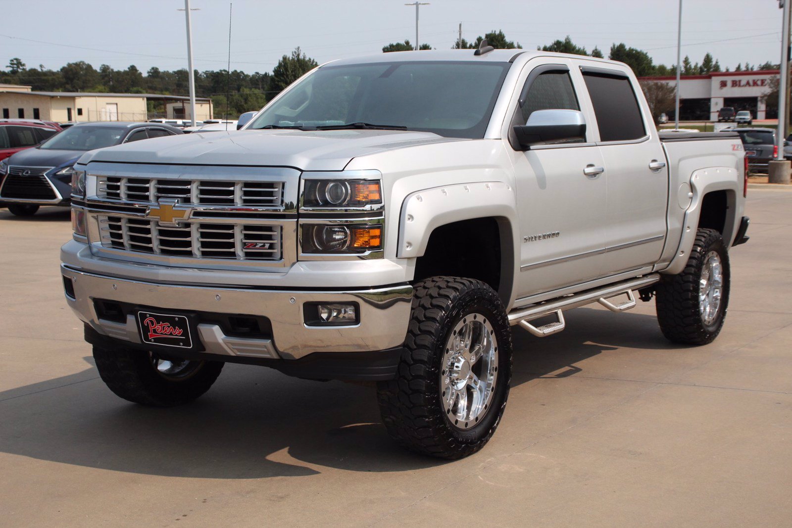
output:
<instances>
[{"instance_id":1,"label":"silver truck's front door bearing the Silverado lettering","mask_svg":"<svg viewBox=\"0 0 792 528\"><path fill-rule=\"evenodd\" d=\"M567 59L532 60L524 78L512 124L525 124L536 110L581 110ZM607 172L584 173L603 167L599 147L587 140L518 150L513 137L509 143L520 208L517 298L599 276Z\"/></svg>"}]
</instances>

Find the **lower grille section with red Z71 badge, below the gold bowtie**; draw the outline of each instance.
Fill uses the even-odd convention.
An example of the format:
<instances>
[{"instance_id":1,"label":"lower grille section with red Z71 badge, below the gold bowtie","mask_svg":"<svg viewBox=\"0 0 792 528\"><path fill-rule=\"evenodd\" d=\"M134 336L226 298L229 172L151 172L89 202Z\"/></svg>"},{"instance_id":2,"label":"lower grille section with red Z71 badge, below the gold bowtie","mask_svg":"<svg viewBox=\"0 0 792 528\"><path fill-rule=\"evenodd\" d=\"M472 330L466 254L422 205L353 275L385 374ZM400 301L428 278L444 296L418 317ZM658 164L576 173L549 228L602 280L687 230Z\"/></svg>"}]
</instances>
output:
<instances>
[{"instance_id":1,"label":"lower grille section with red Z71 badge, below the gold bowtie","mask_svg":"<svg viewBox=\"0 0 792 528\"><path fill-rule=\"evenodd\" d=\"M280 260L280 226L186 222L159 226L156 220L100 215L101 245L139 253L228 260Z\"/></svg>"}]
</instances>

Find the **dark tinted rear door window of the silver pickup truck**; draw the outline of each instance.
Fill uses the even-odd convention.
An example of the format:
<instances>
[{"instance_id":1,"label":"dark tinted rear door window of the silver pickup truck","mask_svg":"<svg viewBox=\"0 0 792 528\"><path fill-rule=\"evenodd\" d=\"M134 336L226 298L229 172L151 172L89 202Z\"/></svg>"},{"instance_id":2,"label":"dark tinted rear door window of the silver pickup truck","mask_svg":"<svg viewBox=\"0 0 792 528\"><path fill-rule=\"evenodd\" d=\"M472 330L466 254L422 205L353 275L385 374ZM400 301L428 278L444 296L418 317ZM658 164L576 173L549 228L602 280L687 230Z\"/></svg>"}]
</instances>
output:
<instances>
[{"instance_id":1,"label":"dark tinted rear door window of the silver pickup truck","mask_svg":"<svg viewBox=\"0 0 792 528\"><path fill-rule=\"evenodd\" d=\"M630 79L585 72L583 78L600 127L600 141L626 141L646 135Z\"/></svg>"}]
</instances>

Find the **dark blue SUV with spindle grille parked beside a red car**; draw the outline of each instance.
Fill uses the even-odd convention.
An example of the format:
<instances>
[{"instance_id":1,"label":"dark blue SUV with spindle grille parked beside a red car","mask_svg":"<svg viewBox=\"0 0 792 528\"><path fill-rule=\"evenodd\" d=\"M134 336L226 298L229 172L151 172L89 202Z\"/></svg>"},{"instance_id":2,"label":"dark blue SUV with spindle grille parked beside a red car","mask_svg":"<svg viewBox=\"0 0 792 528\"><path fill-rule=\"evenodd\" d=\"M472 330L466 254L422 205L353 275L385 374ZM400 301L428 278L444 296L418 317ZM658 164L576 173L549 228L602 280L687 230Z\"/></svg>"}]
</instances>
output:
<instances>
[{"instance_id":1,"label":"dark blue SUV with spindle grille parked beside a red car","mask_svg":"<svg viewBox=\"0 0 792 528\"><path fill-rule=\"evenodd\" d=\"M76 124L0 161L0 203L17 216L33 215L42 205L68 206L72 165L86 150L178 134L178 128L159 123Z\"/></svg>"}]
</instances>

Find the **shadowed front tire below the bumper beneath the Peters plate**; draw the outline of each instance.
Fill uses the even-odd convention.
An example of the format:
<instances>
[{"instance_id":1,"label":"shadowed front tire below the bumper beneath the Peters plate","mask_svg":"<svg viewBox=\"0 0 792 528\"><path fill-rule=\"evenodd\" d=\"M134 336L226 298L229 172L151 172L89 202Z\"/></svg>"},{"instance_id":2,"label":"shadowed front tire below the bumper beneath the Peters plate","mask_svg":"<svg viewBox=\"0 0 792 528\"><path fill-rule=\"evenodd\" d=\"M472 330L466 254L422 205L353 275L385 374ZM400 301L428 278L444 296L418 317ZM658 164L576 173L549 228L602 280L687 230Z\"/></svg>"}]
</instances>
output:
<instances>
[{"instance_id":1,"label":"shadowed front tire below the bumper beneath the Peters plate","mask_svg":"<svg viewBox=\"0 0 792 528\"><path fill-rule=\"evenodd\" d=\"M116 396L154 407L172 407L200 397L215 382L224 364L96 346L93 359L102 381Z\"/></svg>"}]
</instances>

